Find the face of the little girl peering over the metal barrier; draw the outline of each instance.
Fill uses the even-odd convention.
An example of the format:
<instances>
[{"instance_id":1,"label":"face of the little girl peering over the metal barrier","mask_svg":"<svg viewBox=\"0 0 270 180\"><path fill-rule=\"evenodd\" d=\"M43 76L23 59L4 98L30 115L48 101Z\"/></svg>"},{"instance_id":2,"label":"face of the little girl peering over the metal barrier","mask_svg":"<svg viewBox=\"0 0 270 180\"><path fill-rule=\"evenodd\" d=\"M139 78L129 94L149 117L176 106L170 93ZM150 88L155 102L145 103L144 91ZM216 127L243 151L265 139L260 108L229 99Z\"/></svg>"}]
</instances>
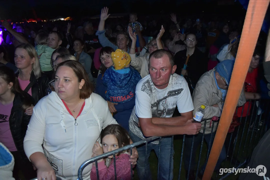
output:
<instances>
[{"instance_id":1,"label":"face of the little girl peering over the metal barrier","mask_svg":"<svg viewBox=\"0 0 270 180\"><path fill-rule=\"evenodd\" d=\"M102 139L103 153L110 152L118 148L119 148L118 141L114 135L108 134L103 137ZM113 158L113 155L109 156L108 158Z\"/></svg>"}]
</instances>

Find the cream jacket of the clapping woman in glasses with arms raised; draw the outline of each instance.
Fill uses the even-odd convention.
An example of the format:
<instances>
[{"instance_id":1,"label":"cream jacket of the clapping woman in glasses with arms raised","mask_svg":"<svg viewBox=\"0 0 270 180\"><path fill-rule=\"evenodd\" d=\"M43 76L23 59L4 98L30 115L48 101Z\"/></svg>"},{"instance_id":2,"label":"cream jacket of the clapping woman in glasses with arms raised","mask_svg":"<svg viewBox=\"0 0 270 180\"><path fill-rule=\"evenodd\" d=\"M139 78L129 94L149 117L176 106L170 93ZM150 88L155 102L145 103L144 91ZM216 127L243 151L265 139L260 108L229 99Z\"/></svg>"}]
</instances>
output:
<instances>
[{"instance_id":1,"label":"cream jacket of the clapping woman in glasses with arms raised","mask_svg":"<svg viewBox=\"0 0 270 180\"><path fill-rule=\"evenodd\" d=\"M148 60L149 53L146 53L144 56L136 57L135 54L129 54L131 57L130 66L136 69L140 74L141 78L144 78L149 74Z\"/></svg>"}]
</instances>

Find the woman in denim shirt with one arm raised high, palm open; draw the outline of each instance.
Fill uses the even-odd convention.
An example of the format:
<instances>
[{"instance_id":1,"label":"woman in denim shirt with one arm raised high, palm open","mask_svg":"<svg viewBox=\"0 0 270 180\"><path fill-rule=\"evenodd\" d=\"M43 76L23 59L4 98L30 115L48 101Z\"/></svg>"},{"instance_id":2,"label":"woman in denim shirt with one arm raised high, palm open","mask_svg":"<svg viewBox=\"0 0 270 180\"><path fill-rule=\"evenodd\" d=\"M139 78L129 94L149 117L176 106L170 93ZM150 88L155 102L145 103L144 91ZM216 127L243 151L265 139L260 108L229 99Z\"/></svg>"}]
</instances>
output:
<instances>
[{"instance_id":1,"label":"woman in denim shirt with one arm raised high, palm open","mask_svg":"<svg viewBox=\"0 0 270 180\"><path fill-rule=\"evenodd\" d=\"M101 14L100 14L100 22L99 22L99 28L96 32L96 35L99 37L99 43L103 46L109 46L112 47L113 50L115 51L116 49L121 49L127 53L129 53L129 47L127 46L129 44L129 36L127 35L126 32L120 31L117 34L117 46L114 45L112 42L109 41L109 39L105 36L105 21L106 19L109 17L108 15L108 10L109 8L104 7L101 10Z\"/></svg>"}]
</instances>

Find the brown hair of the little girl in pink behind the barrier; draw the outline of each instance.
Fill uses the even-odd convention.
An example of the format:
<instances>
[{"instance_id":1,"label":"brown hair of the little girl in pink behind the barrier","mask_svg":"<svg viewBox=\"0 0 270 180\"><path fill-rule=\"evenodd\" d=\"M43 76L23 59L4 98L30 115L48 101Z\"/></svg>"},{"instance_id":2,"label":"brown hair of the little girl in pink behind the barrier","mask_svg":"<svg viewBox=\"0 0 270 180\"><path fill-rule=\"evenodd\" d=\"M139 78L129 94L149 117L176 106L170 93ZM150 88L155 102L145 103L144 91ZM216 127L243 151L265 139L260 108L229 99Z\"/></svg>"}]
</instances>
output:
<instances>
[{"instance_id":1,"label":"brown hair of the little girl in pink behind the barrier","mask_svg":"<svg viewBox=\"0 0 270 180\"><path fill-rule=\"evenodd\" d=\"M119 148L130 144L129 133L122 126L118 124L110 124L101 131L100 133L101 144L102 144L102 139L106 135L109 135L109 134L112 134L116 137ZM123 152L118 153L117 156L119 156L121 153Z\"/></svg>"}]
</instances>

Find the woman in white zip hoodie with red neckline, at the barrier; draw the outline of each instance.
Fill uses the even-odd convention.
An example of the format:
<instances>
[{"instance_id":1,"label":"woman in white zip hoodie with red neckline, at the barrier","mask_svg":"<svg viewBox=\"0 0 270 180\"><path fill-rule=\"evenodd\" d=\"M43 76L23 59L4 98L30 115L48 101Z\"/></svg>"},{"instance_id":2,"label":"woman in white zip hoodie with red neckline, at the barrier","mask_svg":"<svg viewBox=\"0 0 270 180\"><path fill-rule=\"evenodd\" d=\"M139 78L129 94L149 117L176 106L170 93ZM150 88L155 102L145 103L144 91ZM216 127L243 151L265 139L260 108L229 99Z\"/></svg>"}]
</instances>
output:
<instances>
[{"instance_id":1,"label":"woman in white zip hoodie with red neckline, at the barrier","mask_svg":"<svg viewBox=\"0 0 270 180\"><path fill-rule=\"evenodd\" d=\"M77 179L101 130L117 124L107 102L92 91L79 62L68 60L57 66L54 90L34 107L23 142L27 157L38 169L38 179ZM130 161L136 164L134 153ZM91 169L92 164L84 169L83 179L90 179Z\"/></svg>"}]
</instances>

